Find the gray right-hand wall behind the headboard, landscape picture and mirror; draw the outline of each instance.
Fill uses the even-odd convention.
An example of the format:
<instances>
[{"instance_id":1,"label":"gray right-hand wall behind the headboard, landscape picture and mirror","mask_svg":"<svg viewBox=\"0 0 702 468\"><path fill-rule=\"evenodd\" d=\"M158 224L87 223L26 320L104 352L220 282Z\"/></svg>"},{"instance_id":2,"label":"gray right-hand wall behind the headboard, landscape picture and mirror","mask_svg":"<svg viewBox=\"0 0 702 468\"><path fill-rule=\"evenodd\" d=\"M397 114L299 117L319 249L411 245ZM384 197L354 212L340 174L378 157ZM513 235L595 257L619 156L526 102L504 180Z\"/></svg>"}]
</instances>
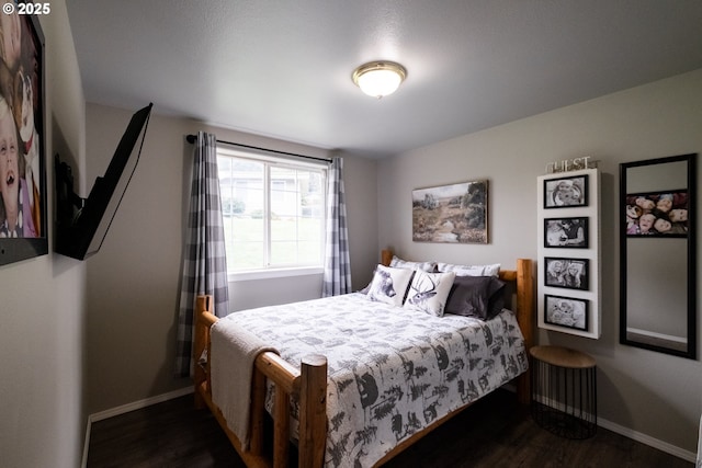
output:
<instances>
[{"instance_id":1,"label":"gray right-hand wall behind the headboard, landscape picture and mirror","mask_svg":"<svg viewBox=\"0 0 702 468\"><path fill-rule=\"evenodd\" d=\"M619 344L619 163L702 152L702 70L416 149L378 165L381 248L410 260L454 263L536 258L536 178L548 162L591 156L602 171L602 338L540 331L540 343L571 346L598 363L602 422L627 435L695 452L702 364ZM490 182L490 243L411 240L412 189ZM698 174L698 181L701 181ZM697 216L702 213L698 209ZM700 242L698 231L698 244ZM698 278L702 278L699 273ZM699 285L698 285L699 288ZM699 308L698 308L699 309ZM698 317L698 336L702 319ZM699 355L699 352L698 352Z\"/></svg>"}]
</instances>

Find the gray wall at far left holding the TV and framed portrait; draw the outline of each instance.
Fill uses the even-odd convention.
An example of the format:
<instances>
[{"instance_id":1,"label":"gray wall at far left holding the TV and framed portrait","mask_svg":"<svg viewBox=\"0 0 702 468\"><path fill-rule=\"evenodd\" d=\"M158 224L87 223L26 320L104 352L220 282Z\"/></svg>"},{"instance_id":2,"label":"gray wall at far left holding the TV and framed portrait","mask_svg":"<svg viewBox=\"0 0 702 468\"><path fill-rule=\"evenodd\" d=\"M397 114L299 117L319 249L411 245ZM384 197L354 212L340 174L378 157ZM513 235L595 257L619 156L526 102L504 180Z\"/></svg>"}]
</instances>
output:
<instances>
[{"instance_id":1,"label":"gray wall at far left holding the TV and framed portrait","mask_svg":"<svg viewBox=\"0 0 702 468\"><path fill-rule=\"evenodd\" d=\"M53 157L82 161L84 100L64 0L41 16L46 39L48 231ZM49 250L53 238L49 238ZM0 464L9 468L80 465L83 406L84 266L49 253L0 266Z\"/></svg>"}]
</instances>

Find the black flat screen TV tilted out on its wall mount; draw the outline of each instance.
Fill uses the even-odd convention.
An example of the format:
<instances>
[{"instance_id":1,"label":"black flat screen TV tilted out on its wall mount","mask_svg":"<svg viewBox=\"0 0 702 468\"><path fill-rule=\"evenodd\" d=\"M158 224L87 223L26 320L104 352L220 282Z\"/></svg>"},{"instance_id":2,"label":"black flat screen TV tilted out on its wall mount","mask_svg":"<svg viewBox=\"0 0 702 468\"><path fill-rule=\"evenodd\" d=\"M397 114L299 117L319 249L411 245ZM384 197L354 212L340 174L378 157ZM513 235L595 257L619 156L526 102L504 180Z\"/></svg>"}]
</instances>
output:
<instances>
[{"instance_id":1,"label":"black flat screen TV tilted out on its wall mount","mask_svg":"<svg viewBox=\"0 0 702 468\"><path fill-rule=\"evenodd\" d=\"M104 176L88 198L73 193L70 168L56 159L56 252L84 260L100 250L141 156L152 104L137 111L117 145Z\"/></svg>"}]
</instances>

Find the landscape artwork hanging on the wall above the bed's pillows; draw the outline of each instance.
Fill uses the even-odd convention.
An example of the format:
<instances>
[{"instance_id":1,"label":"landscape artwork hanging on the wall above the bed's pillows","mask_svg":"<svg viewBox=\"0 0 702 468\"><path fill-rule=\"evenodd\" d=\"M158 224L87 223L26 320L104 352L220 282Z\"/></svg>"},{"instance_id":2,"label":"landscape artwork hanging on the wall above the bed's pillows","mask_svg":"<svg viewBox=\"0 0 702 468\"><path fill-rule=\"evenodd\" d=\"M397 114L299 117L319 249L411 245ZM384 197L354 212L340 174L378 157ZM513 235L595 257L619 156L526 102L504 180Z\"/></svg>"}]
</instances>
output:
<instances>
[{"instance_id":1,"label":"landscape artwork hanging on the wall above the bed's pillows","mask_svg":"<svg viewBox=\"0 0 702 468\"><path fill-rule=\"evenodd\" d=\"M488 181L412 191L412 240L487 243Z\"/></svg>"}]
</instances>

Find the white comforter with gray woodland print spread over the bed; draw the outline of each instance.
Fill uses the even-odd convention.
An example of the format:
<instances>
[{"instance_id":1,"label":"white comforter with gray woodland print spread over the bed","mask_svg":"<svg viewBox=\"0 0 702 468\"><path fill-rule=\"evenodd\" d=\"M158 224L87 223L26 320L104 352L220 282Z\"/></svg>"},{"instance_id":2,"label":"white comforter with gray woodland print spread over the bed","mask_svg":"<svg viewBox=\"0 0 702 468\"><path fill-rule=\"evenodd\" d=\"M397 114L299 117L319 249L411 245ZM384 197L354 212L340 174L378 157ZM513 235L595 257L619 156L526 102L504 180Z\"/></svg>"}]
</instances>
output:
<instances>
[{"instance_id":1,"label":"white comforter with gray woodland print spread over the bed","mask_svg":"<svg viewBox=\"0 0 702 468\"><path fill-rule=\"evenodd\" d=\"M222 320L246 327L294 366L309 354L327 357L327 467L372 466L404 438L528 367L509 310L487 322L440 318L356 293Z\"/></svg>"}]
</instances>

